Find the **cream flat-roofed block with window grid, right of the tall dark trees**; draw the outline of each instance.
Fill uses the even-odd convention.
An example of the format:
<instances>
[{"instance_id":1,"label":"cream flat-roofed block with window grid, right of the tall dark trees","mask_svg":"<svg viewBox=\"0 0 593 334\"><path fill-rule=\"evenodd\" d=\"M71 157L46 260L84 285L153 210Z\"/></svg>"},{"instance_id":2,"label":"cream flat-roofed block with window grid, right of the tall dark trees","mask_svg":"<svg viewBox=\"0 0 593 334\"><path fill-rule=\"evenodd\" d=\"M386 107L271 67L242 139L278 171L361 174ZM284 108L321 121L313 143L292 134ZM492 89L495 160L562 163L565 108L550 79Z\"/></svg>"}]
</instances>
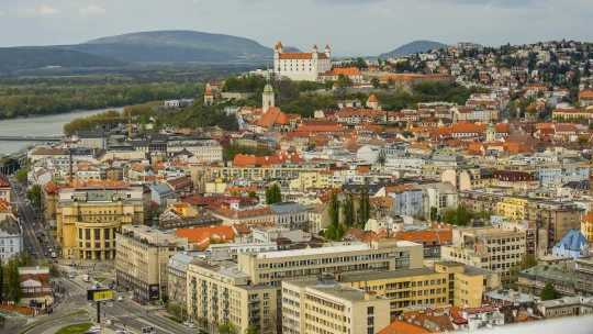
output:
<instances>
[{"instance_id":1,"label":"cream flat-roofed block with window grid, right of the tall dark trees","mask_svg":"<svg viewBox=\"0 0 593 334\"><path fill-rule=\"evenodd\" d=\"M511 268L525 255L525 231L459 227L452 233L452 245L441 246L443 259L497 271L503 286L516 283Z\"/></svg>"}]
</instances>

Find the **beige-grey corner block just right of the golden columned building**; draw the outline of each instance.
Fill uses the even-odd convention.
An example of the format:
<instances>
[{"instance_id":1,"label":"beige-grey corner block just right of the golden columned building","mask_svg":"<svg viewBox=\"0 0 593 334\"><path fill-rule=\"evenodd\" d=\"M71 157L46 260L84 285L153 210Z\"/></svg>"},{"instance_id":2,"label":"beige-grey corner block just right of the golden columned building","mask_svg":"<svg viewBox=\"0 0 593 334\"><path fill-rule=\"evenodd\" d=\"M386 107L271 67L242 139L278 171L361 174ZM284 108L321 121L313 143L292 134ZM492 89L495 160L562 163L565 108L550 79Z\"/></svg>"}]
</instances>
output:
<instances>
[{"instance_id":1,"label":"beige-grey corner block just right of the golden columned building","mask_svg":"<svg viewBox=\"0 0 593 334\"><path fill-rule=\"evenodd\" d=\"M143 300L167 293L169 258L184 249L187 238L146 225L124 225L115 236L115 279Z\"/></svg>"}]
</instances>

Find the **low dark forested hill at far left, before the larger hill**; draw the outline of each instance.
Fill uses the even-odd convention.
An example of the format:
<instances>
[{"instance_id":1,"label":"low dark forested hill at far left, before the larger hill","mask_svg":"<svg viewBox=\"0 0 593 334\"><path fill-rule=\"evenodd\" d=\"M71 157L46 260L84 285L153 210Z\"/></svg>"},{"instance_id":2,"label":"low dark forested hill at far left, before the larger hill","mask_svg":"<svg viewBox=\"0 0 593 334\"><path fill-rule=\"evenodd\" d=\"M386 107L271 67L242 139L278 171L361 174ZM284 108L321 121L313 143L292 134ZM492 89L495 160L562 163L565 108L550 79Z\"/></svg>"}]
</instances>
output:
<instances>
[{"instance_id":1,"label":"low dark forested hill at far left, before the larger hill","mask_svg":"<svg viewBox=\"0 0 593 334\"><path fill-rule=\"evenodd\" d=\"M8 75L14 70L60 67L111 67L125 65L122 62L76 51L48 47L1 47L0 74Z\"/></svg>"}]
</instances>

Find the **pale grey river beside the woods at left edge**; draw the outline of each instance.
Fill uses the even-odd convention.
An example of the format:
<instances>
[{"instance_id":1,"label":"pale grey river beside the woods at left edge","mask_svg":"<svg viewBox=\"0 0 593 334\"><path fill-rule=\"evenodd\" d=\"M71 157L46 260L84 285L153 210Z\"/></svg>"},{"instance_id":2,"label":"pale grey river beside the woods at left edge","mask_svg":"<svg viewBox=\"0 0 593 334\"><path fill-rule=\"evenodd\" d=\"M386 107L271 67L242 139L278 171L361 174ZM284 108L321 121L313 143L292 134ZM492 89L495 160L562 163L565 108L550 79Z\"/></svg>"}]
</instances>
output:
<instances>
[{"instance_id":1,"label":"pale grey river beside the woods at left edge","mask_svg":"<svg viewBox=\"0 0 593 334\"><path fill-rule=\"evenodd\" d=\"M57 136L64 134L64 124L74 119L88 118L108 110L122 111L120 108L96 109L85 111L72 111L68 113L44 115L26 119L14 119L0 121L0 135L2 136ZM33 142L9 142L0 141L0 156L19 152Z\"/></svg>"}]
</instances>

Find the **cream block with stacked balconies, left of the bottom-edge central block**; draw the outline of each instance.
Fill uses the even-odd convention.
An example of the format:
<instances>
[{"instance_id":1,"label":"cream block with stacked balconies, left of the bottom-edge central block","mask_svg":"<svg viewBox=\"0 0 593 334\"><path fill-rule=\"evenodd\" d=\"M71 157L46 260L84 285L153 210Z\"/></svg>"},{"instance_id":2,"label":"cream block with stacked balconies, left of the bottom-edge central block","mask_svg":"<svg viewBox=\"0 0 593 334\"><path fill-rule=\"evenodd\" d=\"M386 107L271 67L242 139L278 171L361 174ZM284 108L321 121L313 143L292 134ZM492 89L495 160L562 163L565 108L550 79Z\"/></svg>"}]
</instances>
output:
<instances>
[{"instance_id":1,"label":"cream block with stacked balconies, left of the bottom-edge central block","mask_svg":"<svg viewBox=\"0 0 593 334\"><path fill-rule=\"evenodd\" d=\"M194 259L187 270L188 316L210 331L231 323L236 333L248 327L276 330L277 289L253 285L250 276L232 261Z\"/></svg>"}]
</instances>

